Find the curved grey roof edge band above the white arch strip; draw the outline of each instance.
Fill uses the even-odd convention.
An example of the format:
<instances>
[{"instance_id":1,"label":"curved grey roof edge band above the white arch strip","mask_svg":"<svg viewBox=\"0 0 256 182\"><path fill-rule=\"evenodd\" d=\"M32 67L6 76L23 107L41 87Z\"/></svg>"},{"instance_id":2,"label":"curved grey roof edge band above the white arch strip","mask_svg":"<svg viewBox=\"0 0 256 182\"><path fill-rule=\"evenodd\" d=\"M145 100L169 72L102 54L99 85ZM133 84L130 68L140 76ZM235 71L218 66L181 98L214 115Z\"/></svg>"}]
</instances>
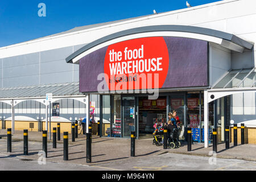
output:
<instances>
[{"instance_id":1,"label":"curved grey roof edge band above the white arch strip","mask_svg":"<svg viewBox=\"0 0 256 182\"><path fill-rule=\"evenodd\" d=\"M156 32L156 31L176 31L176 32L189 32L195 34L202 34L202 35L209 35L214 36L216 38L221 38L228 40L238 46L245 47L247 49L253 49L254 43L247 42L238 36L229 34L227 32L213 30L210 28L203 28L203 27L195 27L195 26L184 26L184 25L160 25L160 26L144 26L138 28L131 28L128 30L123 30L119 32L115 32L114 34L110 34L104 36L103 38L94 40L93 42L86 44L86 46L80 48L76 52L72 53L66 58L67 63L72 63L71 60L76 56L80 55L82 52L87 51L88 49L102 44L104 42L108 42L109 40L113 40L116 38L120 38L122 36L132 35L132 34L140 34L144 32Z\"/></svg>"}]
</instances>

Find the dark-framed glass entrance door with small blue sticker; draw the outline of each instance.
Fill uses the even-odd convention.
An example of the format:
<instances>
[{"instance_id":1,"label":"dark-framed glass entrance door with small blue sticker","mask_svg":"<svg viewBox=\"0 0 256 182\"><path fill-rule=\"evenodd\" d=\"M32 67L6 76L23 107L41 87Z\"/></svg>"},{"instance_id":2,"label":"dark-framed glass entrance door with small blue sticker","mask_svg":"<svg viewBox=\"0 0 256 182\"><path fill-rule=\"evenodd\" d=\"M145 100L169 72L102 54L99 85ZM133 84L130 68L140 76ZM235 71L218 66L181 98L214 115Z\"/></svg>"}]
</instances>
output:
<instances>
[{"instance_id":1,"label":"dark-framed glass entrance door with small blue sticker","mask_svg":"<svg viewBox=\"0 0 256 182\"><path fill-rule=\"evenodd\" d=\"M135 97L123 97L123 137L130 137L135 131Z\"/></svg>"}]
</instances>

